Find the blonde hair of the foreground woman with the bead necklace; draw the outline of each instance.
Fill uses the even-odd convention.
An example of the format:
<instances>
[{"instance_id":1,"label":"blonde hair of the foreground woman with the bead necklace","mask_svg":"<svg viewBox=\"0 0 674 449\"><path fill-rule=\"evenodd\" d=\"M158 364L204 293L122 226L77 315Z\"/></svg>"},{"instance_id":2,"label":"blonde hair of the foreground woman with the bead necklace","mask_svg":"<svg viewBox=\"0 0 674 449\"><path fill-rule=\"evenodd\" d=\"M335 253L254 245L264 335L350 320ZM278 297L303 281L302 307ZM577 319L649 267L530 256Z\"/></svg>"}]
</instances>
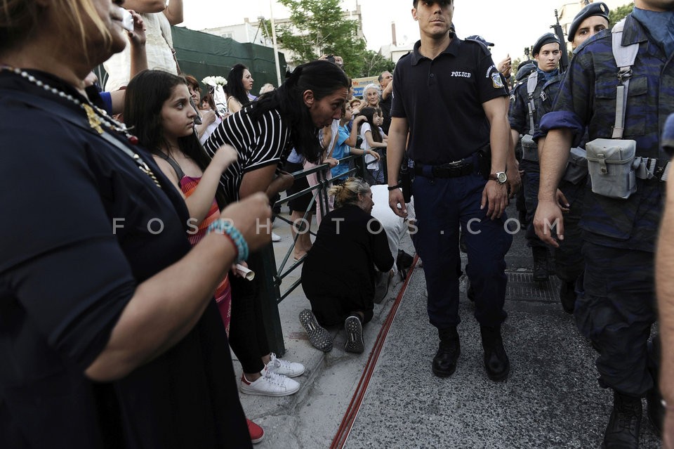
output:
<instances>
[{"instance_id":1,"label":"blonde hair of the foreground woman with the bead necklace","mask_svg":"<svg viewBox=\"0 0 674 449\"><path fill-rule=\"evenodd\" d=\"M103 36L106 46L112 44L112 35L103 20L98 16L91 0L52 0L49 6L53 14L67 18L60 25L60 32L67 34L79 30L82 52L86 56L88 46L85 22L91 20ZM35 0L0 0L0 50L11 48L29 37L41 25L41 16L45 13Z\"/></svg>"}]
</instances>

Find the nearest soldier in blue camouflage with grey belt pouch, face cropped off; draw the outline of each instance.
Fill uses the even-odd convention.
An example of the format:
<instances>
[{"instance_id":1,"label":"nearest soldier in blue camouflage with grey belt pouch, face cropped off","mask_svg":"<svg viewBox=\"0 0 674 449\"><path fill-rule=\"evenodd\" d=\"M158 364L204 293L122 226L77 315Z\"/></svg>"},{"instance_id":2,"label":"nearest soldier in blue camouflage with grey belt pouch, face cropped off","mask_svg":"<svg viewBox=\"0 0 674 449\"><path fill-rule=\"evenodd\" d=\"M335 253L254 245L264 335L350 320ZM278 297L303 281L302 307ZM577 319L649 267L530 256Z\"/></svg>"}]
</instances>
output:
<instances>
[{"instance_id":1,"label":"nearest soldier in blue camouflage with grey belt pouch, face cropped off","mask_svg":"<svg viewBox=\"0 0 674 449\"><path fill-rule=\"evenodd\" d=\"M673 17L673 0L635 0L634 11L624 22L619 43L638 48L635 62L630 71L626 70L631 76L624 126L614 128L616 115L621 116L621 108L616 108L619 86L624 89L627 77L618 77L609 30L579 47L553 112L541 122L548 136L541 154L534 222L538 236L550 245L557 246L550 223L557 223L557 238L564 240L564 216L555 191L569 148L582 138L586 127L590 138L586 148L597 138L619 136L623 129L622 139L627 144L636 143L636 157L652 158L647 173L641 166L639 176L635 171L635 184L629 186L636 190L628 190L625 199L607 195L607 191L612 187L624 190L625 185L616 181L629 181L631 175L610 182L607 176L599 175L613 171L595 172L590 167L594 178L590 176L583 200L585 291L576 299L574 314L579 330L599 352L600 384L614 392L613 410L604 433L604 446L608 448L638 447L643 396L647 396L649 417L656 417L654 411L660 408L658 401L652 400L655 396L649 394L656 387L657 377L650 363L653 356L648 341L656 320L653 252L665 186L661 177L668 164L659 138L668 113L674 110ZM616 146L628 148L626 143ZM601 160L599 151L597 160Z\"/></svg>"}]
</instances>

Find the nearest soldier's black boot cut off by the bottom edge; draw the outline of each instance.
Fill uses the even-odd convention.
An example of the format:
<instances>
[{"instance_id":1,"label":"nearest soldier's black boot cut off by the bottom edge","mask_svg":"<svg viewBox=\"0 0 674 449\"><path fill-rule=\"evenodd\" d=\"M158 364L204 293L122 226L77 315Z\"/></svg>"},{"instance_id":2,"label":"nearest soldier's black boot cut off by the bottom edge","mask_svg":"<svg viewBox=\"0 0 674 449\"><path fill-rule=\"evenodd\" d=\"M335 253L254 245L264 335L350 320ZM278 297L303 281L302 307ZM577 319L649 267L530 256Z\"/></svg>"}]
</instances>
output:
<instances>
[{"instance_id":1,"label":"nearest soldier's black boot cut off by the bottom edge","mask_svg":"<svg viewBox=\"0 0 674 449\"><path fill-rule=\"evenodd\" d=\"M638 449L641 398L613 392L613 411L604 432L602 448Z\"/></svg>"}]
</instances>

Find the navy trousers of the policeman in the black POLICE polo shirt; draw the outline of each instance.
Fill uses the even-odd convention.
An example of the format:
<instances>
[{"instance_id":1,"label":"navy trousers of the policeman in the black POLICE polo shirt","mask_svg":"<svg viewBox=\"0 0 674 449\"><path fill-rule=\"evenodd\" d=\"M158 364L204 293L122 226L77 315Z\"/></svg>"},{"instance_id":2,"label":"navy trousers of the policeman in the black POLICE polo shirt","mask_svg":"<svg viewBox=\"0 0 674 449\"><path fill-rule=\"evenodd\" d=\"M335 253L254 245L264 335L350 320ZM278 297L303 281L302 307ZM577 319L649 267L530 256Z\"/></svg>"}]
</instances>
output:
<instances>
[{"instance_id":1,"label":"navy trousers of the policeman in the black POLICE polo shirt","mask_svg":"<svg viewBox=\"0 0 674 449\"><path fill-rule=\"evenodd\" d=\"M475 318L480 325L496 327L507 316L505 302L505 253L513 236L505 230L505 214L490 220L480 210L486 181L478 174L458 178L416 176L412 185L416 212L416 252L423 260L428 289L428 318L438 329L460 323L458 273L461 256L458 229L465 233L468 265L465 268L475 291Z\"/></svg>"}]
</instances>

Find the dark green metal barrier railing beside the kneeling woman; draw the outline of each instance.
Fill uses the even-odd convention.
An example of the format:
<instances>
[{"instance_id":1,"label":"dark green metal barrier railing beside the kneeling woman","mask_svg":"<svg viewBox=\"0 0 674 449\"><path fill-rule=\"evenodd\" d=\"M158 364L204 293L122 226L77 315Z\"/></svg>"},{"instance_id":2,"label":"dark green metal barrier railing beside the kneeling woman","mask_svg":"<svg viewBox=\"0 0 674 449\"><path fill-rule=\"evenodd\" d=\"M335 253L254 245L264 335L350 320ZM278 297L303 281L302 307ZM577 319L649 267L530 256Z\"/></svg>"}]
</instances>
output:
<instances>
[{"instance_id":1,"label":"dark green metal barrier railing beside the kneeling woman","mask_svg":"<svg viewBox=\"0 0 674 449\"><path fill-rule=\"evenodd\" d=\"M363 155L350 155L339 160L340 164L350 164L351 161L356 162L359 160L360 167L355 164L355 167L350 168L341 176L362 176L366 177L366 164L364 162ZM327 213L327 204L328 204L328 189L332 184L331 179L327 179L325 174L326 170L329 170L328 164L322 164L317 167L312 167L308 170L296 171L293 173L293 178L295 180L300 178L306 178L310 174L316 174L318 183L315 186L309 186L300 192L294 193L293 195L286 196L281 200L275 202L275 206L280 206L286 204L287 202L294 200L302 195L308 195L312 193L312 199L309 202L309 206L304 212L304 215L301 219L301 223L305 224L307 228L301 228L296 230L293 233L293 243L288 249L288 252L283 256L279 266L276 264L276 256L274 254L274 248L272 244L265 246L262 250L263 256L263 285L261 286L261 291L258 294L262 294L262 303L263 303L263 320L266 325L267 339L269 341L270 350L275 352L277 356L281 357L286 352L286 346L283 341L283 330L281 326L281 317L279 315L279 304L283 301L289 294L293 292L294 289L299 287L302 283L302 279L298 278L291 285L287 286L282 290L282 283L285 278L287 278L293 271L299 268L304 262L305 256L301 259L295 261L291 259L295 245L297 244L297 239L300 232L307 232L310 235L316 235L315 232L311 230L311 223L308 221L308 217L311 216L312 212L316 208L316 202L320 204L320 211L322 216ZM361 170L361 173L357 175L358 171ZM295 226L291 219L286 219L284 216L277 216L277 220L284 221L290 226ZM297 232L299 231L299 232ZM292 263L289 263L292 261Z\"/></svg>"}]
</instances>

